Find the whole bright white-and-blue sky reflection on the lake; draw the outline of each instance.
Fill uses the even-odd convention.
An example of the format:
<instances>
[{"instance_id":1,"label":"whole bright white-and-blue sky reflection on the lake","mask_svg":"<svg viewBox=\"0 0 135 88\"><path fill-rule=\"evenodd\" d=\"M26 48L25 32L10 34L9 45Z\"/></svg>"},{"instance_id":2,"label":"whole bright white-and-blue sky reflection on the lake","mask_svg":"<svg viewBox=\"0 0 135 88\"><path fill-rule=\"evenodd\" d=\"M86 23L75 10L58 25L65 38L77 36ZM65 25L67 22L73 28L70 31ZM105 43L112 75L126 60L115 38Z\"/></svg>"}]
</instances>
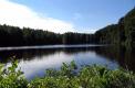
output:
<instances>
[{"instance_id":1,"label":"whole bright white-and-blue sky reflection on the lake","mask_svg":"<svg viewBox=\"0 0 135 88\"><path fill-rule=\"evenodd\" d=\"M81 65L107 65L110 68L117 67L117 63L106 59L105 57L101 57L96 55L95 52L77 52L73 54L68 54L65 52L55 52L54 54L50 54L48 56L34 57L31 61L21 59L19 63L19 67L24 72L24 76L28 79L31 79L35 76L43 76L46 68L60 68L63 62L70 63L75 61L75 63Z\"/></svg>"}]
</instances>

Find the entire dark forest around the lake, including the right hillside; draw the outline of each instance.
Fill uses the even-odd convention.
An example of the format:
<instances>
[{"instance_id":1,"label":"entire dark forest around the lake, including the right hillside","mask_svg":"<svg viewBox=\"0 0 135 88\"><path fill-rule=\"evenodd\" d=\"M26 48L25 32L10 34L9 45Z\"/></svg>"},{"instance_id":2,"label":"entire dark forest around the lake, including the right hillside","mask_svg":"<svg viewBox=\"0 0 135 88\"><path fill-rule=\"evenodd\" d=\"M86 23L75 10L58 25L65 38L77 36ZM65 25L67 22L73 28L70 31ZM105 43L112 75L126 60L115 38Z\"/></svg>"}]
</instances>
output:
<instances>
[{"instance_id":1,"label":"entire dark forest around the lake, including the right hillside","mask_svg":"<svg viewBox=\"0 0 135 88\"><path fill-rule=\"evenodd\" d=\"M53 45L53 44L114 44L135 45L135 8L117 24L100 29L94 34L66 32L53 33L30 28L0 25L0 46Z\"/></svg>"}]
</instances>

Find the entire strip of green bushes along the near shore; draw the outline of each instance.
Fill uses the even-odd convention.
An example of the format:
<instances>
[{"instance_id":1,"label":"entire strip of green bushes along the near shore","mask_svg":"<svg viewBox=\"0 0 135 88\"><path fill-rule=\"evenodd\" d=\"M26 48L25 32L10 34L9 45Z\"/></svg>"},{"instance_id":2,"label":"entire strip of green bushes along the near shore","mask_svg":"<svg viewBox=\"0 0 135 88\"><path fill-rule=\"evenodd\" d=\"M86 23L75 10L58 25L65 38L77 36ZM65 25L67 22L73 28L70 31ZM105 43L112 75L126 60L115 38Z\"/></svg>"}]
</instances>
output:
<instances>
[{"instance_id":1,"label":"entire strip of green bushes along the near shore","mask_svg":"<svg viewBox=\"0 0 135 88\"><path fill-rule=\"evenodd\" d=\"M8 68L0 64L0 88L134 88L135 74L124 69L111 70L102 66L77 68L74 62L63 63L60 70L48 69L43 78L28 81L18 62Z\"/></svg>"}]
</instances>

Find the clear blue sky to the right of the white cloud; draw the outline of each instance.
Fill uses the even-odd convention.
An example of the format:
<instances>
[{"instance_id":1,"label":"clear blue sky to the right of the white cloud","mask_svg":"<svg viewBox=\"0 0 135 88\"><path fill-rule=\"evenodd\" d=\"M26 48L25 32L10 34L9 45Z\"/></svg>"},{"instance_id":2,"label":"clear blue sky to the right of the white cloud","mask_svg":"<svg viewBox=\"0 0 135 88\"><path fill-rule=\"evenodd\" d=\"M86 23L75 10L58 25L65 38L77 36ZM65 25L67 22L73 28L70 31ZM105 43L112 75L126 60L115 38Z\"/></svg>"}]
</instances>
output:
<instances>
[{"instance_id":1,"label":"clear blue sky to the right of the white cloud","mask_svg":"<svg viewBox=\"0 0 135 88\"><path fill-rule=\"evenodd\" d=\"M72 24L74 32L94 32L117 23L135 6L135 0L9 0L38 13ZM51 30L53 31L53 30ZM72 30L70 30L72 31ZM55 32L55 31L54 31Z\"/></svg>"}]
</instances>

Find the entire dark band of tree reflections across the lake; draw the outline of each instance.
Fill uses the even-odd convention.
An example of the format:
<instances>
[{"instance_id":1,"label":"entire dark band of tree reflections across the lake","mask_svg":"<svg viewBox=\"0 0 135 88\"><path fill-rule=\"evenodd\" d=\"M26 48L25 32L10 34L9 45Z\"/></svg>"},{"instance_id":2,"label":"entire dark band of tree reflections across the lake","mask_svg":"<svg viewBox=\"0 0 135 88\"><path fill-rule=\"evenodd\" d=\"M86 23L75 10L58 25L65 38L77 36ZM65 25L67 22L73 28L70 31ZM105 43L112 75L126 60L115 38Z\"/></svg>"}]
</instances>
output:
<instances>
[{"instance_id":1,"label":"entire dark band of tree reflections across the lake","mask_svg":"<svg viewBox=\"0 0 135 88\"><path fill-rule=\"evenodd\" d=\"M122 67L135 70L135 51L126 51L124 47L72 47L72 48L42 48L42 50L22 50L22 51L2 51L0 52L0 61L9 62L9 57L17 56L18 59L31 61L33 58L42 58L43 56L54 55L56 53L65 53L69 55L95 52L111 61L116 61Z\"/></svg>"}]
</instances>

